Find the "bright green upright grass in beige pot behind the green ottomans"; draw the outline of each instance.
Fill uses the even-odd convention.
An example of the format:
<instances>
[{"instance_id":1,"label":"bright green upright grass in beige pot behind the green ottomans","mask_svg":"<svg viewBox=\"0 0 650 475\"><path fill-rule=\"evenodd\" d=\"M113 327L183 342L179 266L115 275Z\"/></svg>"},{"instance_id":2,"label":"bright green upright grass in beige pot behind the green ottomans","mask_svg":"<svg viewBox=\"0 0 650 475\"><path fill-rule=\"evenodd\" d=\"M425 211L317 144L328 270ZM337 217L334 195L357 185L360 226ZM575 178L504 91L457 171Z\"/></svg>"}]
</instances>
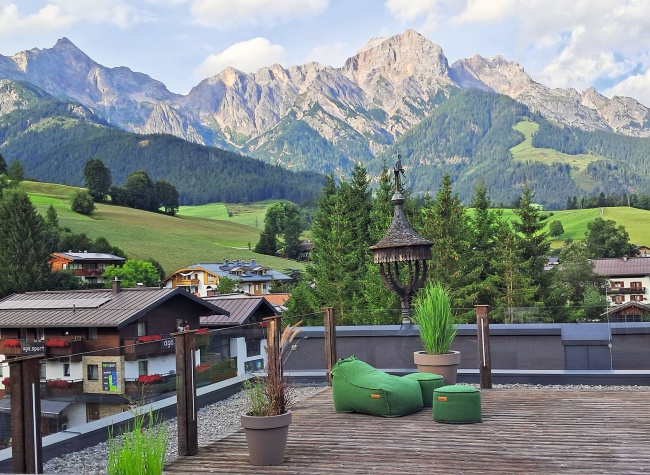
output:
<instances>
[{"instance_id":1,"label":"bright green upright grass in beige pot behind the green ottomans","mask_svg":"<svg viewBox=\"0 0 650 475\"><path fill-rule=\"evenodd\" d=\"M424 351L416 351L413 360L420 373L435 373L446 385L456 384L460 352L452 351L456 325L451 297L440 284L429 281L415 298L413 322L418 326Z\"/></svg>"}]
</instances>

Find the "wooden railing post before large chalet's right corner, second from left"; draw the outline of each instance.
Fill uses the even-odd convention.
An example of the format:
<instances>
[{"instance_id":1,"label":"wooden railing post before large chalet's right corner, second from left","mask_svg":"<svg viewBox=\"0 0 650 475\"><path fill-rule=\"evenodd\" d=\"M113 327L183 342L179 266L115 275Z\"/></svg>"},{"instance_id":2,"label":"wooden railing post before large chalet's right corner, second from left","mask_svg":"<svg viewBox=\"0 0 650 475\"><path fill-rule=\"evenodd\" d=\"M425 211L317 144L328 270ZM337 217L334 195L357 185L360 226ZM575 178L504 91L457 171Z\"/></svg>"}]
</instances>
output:
<instances>
[{"instance_id":1,"label":"wooden railing post before large chalet's right corner, second from left","mask_svg":"<svg viewBox=\"0 0 650 475\"><path fill-rule=\"evenodd\" d=\"M194 381L196 330L172 333L176 347L176 414L178 417L178 455L199 451Z\"/></svg>"}]
</instances>

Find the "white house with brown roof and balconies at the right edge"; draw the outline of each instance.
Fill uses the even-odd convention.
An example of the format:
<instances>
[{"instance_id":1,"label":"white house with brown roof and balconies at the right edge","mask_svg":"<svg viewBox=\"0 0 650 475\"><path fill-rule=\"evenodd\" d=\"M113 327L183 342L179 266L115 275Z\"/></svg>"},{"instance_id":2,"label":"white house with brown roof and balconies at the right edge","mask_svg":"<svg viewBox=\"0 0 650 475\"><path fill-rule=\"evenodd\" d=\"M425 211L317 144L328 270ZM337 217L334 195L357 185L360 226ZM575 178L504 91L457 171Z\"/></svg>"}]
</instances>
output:
<instances>
[{"instance_id":1,"label":"white house with brown roof and balconies at the right edge","mask_svg":"<svg viewBox=\"0 0 650 475\"><path fill-rule=\"evenodd\" d=\"M594 272L607 278L607 300L611 305L650 301L650 259L612 257L593 262Z\"/></svg>"}]
</instances>

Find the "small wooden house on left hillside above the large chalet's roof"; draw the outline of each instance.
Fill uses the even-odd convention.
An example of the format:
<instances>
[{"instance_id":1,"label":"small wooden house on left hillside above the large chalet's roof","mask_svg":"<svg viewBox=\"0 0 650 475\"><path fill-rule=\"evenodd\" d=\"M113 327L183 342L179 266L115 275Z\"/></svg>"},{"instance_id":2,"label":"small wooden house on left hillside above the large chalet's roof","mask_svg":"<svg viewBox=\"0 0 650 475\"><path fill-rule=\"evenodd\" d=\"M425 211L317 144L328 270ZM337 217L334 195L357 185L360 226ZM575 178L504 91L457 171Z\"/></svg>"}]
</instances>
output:
<instances>
[{"instance_id":1,"label":"small wooden house on left hillside above the large chalet's roof","mask_svg":"<svg viewBox=\"0 0 650 475\"><path fill-rule=\"evenodd\" d=\"M48 260L52 271L70 269L82 282L103 284L102 274L108 266L121 266L126 259L100 252L53 252Z\"/></svg>"}]
</instances>

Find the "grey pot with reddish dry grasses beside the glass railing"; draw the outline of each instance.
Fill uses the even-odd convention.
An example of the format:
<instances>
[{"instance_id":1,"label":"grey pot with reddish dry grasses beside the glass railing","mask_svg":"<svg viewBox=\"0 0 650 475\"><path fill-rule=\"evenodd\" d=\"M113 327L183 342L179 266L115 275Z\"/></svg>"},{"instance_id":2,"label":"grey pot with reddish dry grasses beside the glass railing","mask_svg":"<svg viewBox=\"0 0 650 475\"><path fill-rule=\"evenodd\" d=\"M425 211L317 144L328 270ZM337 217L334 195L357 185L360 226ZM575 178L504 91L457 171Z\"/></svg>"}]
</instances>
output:
<instances>
[{"instance_id":1,"label":"grey pot with reddish dry grasses beside the glass railing","mask_svg":"<svg viewBox=\"0 0 650 475\"><path fill-rule=\"evenodd\" d=\"M282 371L285 350L301 330L295 325L282 332L274 358L269 357L266 375L253 378L246 384L247 404L241 416L246 434L250 461L253 465L278 465L284 454L291 424L291 388ZM267 355L271 352L267 350Z\"/></svg>"}]
</instances>

